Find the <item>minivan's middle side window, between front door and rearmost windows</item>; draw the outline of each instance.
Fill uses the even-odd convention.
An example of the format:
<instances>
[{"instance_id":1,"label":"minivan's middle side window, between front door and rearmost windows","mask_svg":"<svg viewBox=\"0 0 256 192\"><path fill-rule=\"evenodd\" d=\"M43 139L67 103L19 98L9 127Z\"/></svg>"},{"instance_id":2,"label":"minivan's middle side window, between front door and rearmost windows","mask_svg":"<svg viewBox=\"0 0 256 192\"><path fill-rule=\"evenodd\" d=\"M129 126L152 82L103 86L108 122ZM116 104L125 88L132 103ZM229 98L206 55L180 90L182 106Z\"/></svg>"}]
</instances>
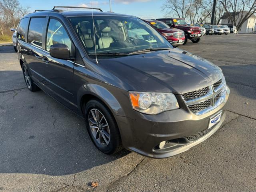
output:
<instances>
[{"instance_id":1,"label":"minivan's middle side window, between front door and rearmost windows","mask_svg":"<svg viewBox=\"0 0 256 192\"><path fill-rule=\"evenodd\" d=\"M32 18L28 28L28 42L42 48L42 34L45 18Z\"/></svg>"}]
</instances>

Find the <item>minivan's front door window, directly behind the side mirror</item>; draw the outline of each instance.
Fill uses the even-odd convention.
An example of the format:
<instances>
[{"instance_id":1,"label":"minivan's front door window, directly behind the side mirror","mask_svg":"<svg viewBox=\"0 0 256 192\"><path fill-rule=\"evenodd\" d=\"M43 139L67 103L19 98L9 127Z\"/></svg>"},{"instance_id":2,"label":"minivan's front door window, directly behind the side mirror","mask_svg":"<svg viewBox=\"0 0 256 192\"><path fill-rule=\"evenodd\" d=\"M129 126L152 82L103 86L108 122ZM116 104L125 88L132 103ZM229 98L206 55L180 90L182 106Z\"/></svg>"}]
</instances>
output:
<instances>
[{"instance_id":1,"label":"minivan's front door window, directly behind the side mirror","mask_svg":"<svg viewBox=\"0 0 256 192\"><path fill-rule=\"evenodd\" d=\"M62 24L55 19L50 19L47 29L46 50L53 44L65 44L71 50L71 40Z\"/></svg>"}]
</instances>

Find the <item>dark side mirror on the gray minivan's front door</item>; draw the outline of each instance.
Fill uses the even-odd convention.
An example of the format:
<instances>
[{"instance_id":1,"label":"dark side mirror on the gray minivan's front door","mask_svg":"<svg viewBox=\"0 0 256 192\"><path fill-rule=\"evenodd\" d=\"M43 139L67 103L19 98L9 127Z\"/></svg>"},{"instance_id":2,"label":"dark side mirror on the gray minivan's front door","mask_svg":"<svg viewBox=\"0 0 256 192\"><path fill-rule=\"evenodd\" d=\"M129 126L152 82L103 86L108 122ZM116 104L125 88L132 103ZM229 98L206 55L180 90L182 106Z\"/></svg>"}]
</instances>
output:
<instances>
[{"instance_id":1,"label":"dark side mirror on the gray minivan's front door","mask_svg":"<svg viewBox=\"0 0 256 192\"><path fill-rule=\"evenodd\" d=\"M58 59L70 59L70 51L65 44L54 44L50 46L50 56Z\"/></svg>"}]
</instances>

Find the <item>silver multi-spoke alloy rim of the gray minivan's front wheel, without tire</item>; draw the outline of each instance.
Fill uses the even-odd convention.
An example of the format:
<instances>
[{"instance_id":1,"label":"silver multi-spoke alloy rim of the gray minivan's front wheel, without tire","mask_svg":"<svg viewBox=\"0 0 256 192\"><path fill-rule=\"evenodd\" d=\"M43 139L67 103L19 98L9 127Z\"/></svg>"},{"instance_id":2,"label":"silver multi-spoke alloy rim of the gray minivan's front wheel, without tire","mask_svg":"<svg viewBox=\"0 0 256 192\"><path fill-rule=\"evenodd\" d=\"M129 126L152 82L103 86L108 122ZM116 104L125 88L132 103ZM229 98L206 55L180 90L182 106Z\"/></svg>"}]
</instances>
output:
<instances>
[{"instance_id":1,"label":"silver multi-spoke alloy rim of the gray minivan's front wheel, without tire","mask_svg":"<svg viewBox=\"0 0 256 192\"><path fill-rule=\"evenodd\" d=\"M107 146L110 142L110 130L104 115L93 108L88 114L88 122L95 140L102 146Z\"/></svg>"}]
</instances>

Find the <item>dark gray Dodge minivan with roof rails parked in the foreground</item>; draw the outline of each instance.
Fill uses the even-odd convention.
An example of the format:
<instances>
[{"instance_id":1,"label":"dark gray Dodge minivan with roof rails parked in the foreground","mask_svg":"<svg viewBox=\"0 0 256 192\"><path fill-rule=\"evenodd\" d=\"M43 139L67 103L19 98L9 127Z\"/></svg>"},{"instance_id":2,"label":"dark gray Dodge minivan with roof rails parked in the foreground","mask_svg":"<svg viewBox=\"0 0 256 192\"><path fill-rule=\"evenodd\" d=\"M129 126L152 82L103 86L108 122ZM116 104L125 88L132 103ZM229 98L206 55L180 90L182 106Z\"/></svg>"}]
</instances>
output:
<instances>
[{"instance_id":1,"label":"dark gray Dodge minivan with roof rails parked in the foreground","mask_svg":"<svg viewBox=\"0 0 256 192\"><path fill-rule=\"evenodd\" d=\"M220 128L230 90L218 66L135 16L58 8L20 20L19 63L30 91L84 117L100 151L165 158Z\"/></svg>"}]
</instances>

